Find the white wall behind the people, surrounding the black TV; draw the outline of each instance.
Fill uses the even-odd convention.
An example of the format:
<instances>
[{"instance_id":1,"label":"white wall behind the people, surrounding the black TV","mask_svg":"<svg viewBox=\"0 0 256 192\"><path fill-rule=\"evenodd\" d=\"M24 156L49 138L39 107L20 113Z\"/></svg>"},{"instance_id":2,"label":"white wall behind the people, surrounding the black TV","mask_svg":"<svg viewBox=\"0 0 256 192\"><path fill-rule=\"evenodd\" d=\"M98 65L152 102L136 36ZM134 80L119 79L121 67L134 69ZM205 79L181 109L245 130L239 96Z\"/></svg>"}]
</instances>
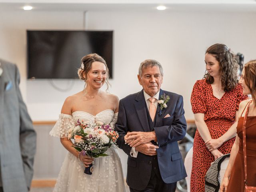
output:
<instances>
[{"instance_id":1,"label":"white wall behind the people, surrounding the black TV","mask_svg":"<svg viewBox=\"0 0 256 192\"><path fill-rule=\"evenodd\" d=\"M86 29L114 30L114 78L110 91L119 98L138 92L137 73L146 58L164 68L162 88L184 96L186 118L193 119L190 94L204 74L204 52L214 43L255 59L256 13L246 12L88 12ZM0 12L0 57L15 62L21 90L33 120L56 120L64 99L83 88L73 80L68 92L55 90L49 80L26 80L26 29L82 30L83 12L32 10ZM60 88L68 80L54 80Z\"/></svg>"}]
</instances>

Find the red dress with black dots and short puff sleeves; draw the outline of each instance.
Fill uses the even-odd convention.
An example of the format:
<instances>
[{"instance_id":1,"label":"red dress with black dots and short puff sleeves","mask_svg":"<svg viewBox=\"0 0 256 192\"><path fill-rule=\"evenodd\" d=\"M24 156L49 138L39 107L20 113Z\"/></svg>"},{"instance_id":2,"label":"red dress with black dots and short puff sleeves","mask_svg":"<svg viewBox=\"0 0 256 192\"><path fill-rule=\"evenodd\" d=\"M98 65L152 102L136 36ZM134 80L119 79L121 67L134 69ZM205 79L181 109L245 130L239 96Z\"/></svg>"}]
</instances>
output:
<instances>
[{"instance_id":1,"label":"red dress with black dots and short puff sleeves","mask_svg":"<svg viewBox=\"0 0 256 192\"><path fill-rule=\"evenodd\" d=\"M204 121L211 137L217 139L226 133L234 123L239 104L245 99L247 96L243 95L243 88L240 84L234 90L225 92L222 98L218 99L213 95L210 84L205 80L198 80L192 90L190 101L193 113L204 114ZM232 138L224 142L218 150L222 154L230 153L234 140L235 138ZM204 140L196 130L190 182L191 192L204 192L204 177L213 161L214 156L206 148Z\"/></svg>"}]
</instances>

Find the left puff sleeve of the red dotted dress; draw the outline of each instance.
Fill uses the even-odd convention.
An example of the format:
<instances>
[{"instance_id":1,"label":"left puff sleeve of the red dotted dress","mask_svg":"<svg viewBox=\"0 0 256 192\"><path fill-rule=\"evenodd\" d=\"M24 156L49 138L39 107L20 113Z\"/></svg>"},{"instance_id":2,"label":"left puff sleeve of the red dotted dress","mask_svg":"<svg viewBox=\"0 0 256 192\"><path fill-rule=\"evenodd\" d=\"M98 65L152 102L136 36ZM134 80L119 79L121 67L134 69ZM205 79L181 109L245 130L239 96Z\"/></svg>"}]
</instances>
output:
<instances>
[{"instance_id":1,"label":"left puff sleeve of the red dotted dress","mask_svg":"<svg viewBox=\"0 0 256 192\"><path fill-rule=\"evenodd\" d=\"M205 103L205 80L197 80L194 84L192 93L191 93L191 106L192 106L192 112L194 114L196 113L203 113L206 112L206 103Z\"/></svg>"}]
</instances>

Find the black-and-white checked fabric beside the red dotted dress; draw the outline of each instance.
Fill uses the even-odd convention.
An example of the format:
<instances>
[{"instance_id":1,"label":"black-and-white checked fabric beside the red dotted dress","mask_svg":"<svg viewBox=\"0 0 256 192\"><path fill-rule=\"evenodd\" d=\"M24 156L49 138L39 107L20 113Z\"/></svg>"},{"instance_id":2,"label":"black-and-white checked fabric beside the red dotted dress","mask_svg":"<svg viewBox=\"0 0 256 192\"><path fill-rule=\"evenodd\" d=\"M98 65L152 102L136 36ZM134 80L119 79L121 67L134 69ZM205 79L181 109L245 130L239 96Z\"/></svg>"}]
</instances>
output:
<instances>
[{"instance_id":1,"label":"black-and-white checked fabric beside the red dotted dress","mask_svg":"<svg viewBox=\"0 0 256 192\"><path fill-rule=\"evenodd\" d=\"M230 154L219 157L212 162L210 168L205 175L205 192L218 192L220 189L220 166L225 158L230 157Z\"/></svg>"}]
</instances>

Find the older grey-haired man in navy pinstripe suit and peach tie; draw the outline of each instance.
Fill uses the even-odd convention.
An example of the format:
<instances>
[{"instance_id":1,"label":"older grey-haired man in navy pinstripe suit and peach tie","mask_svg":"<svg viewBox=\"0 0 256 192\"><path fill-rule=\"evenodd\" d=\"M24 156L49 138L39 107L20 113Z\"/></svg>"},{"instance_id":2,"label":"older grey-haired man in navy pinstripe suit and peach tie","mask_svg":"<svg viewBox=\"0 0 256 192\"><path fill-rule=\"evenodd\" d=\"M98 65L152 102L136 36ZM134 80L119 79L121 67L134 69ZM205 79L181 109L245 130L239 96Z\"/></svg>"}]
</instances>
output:
<instances>
[{"instance_id":1,"label":"older grey-haired man in navy pinstripe suit and peach tie","mask_svg":"<svg viewBox=\"0 0 256 192\"><path fill-rule=\"evenodd\" d=\"M131 192L175 192L186 177L178 140L186 134L182 96L161 88L156 60L140 64L143 90L120 100L118 146L128 154L126 182Z\"/></svg>"}]
</instances>

